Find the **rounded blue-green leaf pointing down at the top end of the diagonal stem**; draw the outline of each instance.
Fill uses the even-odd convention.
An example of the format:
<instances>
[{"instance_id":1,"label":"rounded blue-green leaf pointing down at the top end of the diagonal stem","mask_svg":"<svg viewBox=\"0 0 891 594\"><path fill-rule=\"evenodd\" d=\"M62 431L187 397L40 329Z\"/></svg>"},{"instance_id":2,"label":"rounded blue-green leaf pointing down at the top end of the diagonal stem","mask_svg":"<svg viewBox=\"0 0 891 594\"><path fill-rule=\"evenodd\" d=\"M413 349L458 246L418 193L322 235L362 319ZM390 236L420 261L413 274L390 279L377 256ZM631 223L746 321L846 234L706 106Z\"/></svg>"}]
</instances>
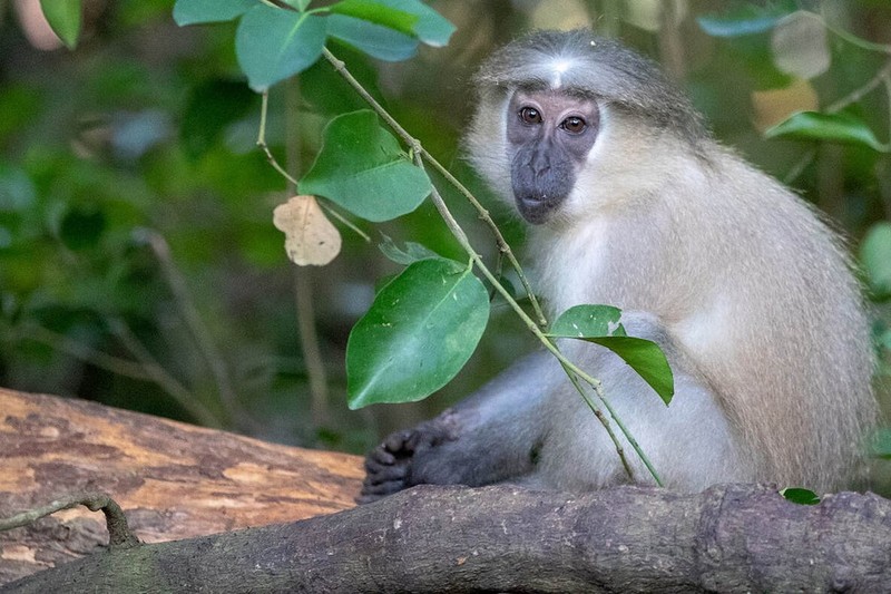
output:
<instances>
[{"instance_id":1,"label":"rounded blue-green leaf pointing down at the top end of the diagonal stem","mask_svg":"<svg viewBox=\"0 0 891 594\"><path fill-rule=\"evenodd\" d=\"M325 19L258 4L235 32L235 55L252 89L262 92L305 70L322 55Z\"/></svg>"}]
</instances>

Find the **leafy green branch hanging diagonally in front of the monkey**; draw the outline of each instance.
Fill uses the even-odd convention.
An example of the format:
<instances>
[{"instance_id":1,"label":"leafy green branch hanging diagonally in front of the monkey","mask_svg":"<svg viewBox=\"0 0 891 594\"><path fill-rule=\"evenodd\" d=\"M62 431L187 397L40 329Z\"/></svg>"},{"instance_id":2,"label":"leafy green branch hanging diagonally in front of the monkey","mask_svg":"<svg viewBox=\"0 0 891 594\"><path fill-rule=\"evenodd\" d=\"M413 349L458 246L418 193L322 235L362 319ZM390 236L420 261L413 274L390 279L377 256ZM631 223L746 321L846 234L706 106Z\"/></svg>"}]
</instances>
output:
<instances>
[{"instance_id":1,"label":"leafy green branch hanging diagonally in front of the monkey","mask_svg":"<svg viewBox=\"0 0 891 594\"><path fill-rule=\"evenodd\" d=\"M313 10L307 9L309 2L291 7L278 7L278 2L274 4L227 0L208 8L199 0L178 0L174 14L180 25L241 19L236 32L236 53L249 85L264 97L257 145L270 164L292 186L297 187L300 196L296 198L301 198L301 203L295 207L300 211L290 216L300 227L298 232L303 233L310 227L309 215L301 213L309 212L307 205L315 202L315 196L323 196L372 222L401 216L430 196L450 233L469 257L469 265L464 266L429 253L420 257L409 255L409 266L379 292L372 308L355 324L347 343L351 408L371 402L419 400L454 377L476 349L489 314L488 292L480 280L470 273L476 267L560 362L613 440L628 475L631 476L631 466L610 420L630 444L656 484L660 485L655 468L604 395L600 381L567 359L555 339L588 340L611 349L667 403L673 396L674 383L664 353L650 341L626 337L618 323L620 312L615 308L585 305L581 311L565 312L551 328L559 328L565 317L571 315L578 322L572 325L576 330L546 332L548 324L544 311L488 211L368 92L344 62L324 47L325 39L334 37L378 58L402 59L408 57L403 55L407 39L413 43L412 52L419 41L444 43L453 29L450 23L417 0L344 0L325 9ZM323 17L323 13L327 16ZM389 49L384 49L384 46ZM324 130L322 149L315 163L301 179L295 179L277 164L265 143L267 88L300 72L321 57L371 106L372 111L345 114L331 120ZM399 142L379 126L378 118L386 123L408 146L409 158ZM507 259L523 285L532 315L520 306L473 249L432 184L425 166L438 172L464 196L491 230L500 254ZM278 214L276 210L276 217ZM594 397L584 384L593 390ZM603 412L601 406L609 417Z\"/></svg>"}]
</instances>

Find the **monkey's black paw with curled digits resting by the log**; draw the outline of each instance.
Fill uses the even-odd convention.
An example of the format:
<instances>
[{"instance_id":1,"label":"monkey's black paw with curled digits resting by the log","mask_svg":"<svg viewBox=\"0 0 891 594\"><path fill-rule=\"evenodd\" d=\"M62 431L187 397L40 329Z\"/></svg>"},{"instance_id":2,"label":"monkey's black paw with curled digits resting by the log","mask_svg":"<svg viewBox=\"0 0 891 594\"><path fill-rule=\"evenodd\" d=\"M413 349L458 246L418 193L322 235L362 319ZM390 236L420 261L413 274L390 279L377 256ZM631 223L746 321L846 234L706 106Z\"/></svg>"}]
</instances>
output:
<instances>
[{"instance_id":1,"label":"monkey's black paw with curled digits resting by the log","mask_svg":"<svg viewBox=\"0 0 891 594\"><path fill-rule=\"evenodd\" d=\"M368 504L414 485L459 483L459 477L443 471L454 467L443 464L449 456L442 451L450 449L443 446L458 439L457 420L450 409L412 429L388 436L365 458L365 480L356 503Z\"/></svg>"}]
</instances>

